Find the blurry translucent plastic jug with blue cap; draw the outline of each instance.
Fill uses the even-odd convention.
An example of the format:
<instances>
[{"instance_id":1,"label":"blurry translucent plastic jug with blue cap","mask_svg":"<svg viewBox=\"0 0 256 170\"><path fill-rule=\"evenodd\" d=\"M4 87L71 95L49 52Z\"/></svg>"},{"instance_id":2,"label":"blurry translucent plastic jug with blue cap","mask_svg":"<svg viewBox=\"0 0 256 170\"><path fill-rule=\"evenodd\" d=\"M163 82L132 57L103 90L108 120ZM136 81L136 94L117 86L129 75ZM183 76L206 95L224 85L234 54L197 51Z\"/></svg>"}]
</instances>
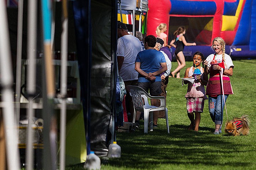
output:
<instances>
[{"instance_id":1,"label":"blurry translucent plastic jug with blue cap","mask_svg":"<svg viewBox=\"0 0 256 170\"><path fill-rule=\"evenodd\" d=\"M87 170L97 170L101 168L100 158L94 154L93 151L90 152L86 157L86 161L84 164L84 169Z\"/></svg>"}]
</instances>

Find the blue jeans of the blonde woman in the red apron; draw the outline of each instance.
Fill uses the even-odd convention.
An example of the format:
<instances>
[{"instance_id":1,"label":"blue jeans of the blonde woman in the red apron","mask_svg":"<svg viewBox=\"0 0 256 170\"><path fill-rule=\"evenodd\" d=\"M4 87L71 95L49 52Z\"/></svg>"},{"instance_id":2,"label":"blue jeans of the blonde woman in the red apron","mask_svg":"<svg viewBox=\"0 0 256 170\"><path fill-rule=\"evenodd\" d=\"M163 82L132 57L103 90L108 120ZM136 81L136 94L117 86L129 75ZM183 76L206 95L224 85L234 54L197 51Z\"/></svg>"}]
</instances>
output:
<instances>
[{"instance_id":1,"label":"blue jeans of the blonde woman in the red apron","mask_svg":"<svg viewBox=\"0 0 256 170\"><path fill-rule=\"evenodd\" d=\"M226 102L228 95L224 96ZM208 98L210 117L212 118L215 124L221 125L223 121L223 109L225 106L225 103L223 101L223 95L218 95L215 97L209 96Z\"/></svg>"}]
</instances>

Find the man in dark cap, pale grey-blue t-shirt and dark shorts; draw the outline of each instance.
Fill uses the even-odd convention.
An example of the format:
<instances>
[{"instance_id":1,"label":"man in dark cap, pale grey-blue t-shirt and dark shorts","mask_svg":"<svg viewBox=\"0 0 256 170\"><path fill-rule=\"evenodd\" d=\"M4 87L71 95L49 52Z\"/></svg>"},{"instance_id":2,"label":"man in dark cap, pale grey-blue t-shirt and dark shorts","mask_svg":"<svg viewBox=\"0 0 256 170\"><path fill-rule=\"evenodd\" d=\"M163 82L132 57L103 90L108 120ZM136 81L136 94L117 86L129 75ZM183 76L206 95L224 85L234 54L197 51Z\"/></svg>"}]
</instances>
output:
<instances>
[{"instance_id":1,"label":"man in dark cap, pale grey-blue t-shirt and dark shorts","mask_svg":"<svg viewBox=\"0 0 256 170\"><path fill-rule=\"evenodd\" d=\"M126 24L118 22L117 24L117 64L119 76L122 77L126 88L126 109L127 113L130 113L128 120L132 122L133 118L133 102L132 97L129 95L127 90L128 85L137 86L138 72L134 70L135 59L138 52L142 51L140 40L133 35L128 33Z\"/></svg>"}]
</instances>

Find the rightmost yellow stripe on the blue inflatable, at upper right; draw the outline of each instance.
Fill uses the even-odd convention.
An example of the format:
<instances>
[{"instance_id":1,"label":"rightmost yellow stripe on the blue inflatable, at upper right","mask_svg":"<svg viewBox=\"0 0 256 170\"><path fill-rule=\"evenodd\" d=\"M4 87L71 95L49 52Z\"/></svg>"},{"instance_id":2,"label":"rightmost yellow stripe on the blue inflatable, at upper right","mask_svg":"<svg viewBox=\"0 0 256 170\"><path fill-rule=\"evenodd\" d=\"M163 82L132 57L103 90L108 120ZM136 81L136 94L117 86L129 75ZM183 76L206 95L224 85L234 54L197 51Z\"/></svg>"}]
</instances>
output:
<instances>
[{"instance_id":1,"label":"rightmost yellow stripe on the blue inflatable, at upper right","mask_svg":"<svg viewBox=\"0 0 256 170\"><path fill-rule=\"evenodd\" d=\"M243 3L244 3L244 0L239 1L235 16L228 16L228 15L222 16L222 29L221 29L222 31L234 31L236 23L238 21L238 17L242 10Z\"/></svg>"}]
</instances>

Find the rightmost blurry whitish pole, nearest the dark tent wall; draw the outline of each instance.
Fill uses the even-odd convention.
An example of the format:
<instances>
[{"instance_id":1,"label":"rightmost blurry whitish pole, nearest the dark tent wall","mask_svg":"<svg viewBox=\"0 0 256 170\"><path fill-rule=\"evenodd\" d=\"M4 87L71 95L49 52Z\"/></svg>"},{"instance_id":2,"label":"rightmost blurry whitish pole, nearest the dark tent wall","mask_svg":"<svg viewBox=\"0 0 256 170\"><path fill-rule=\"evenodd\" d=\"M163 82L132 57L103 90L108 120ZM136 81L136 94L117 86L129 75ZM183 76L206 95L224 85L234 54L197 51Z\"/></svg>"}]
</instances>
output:
<instances>
[{"instance_id":1,"label":"rightmost blurry whitish pole, nearest the dark tent wall","mask_svg":"<svg viewBox=\"0 0 256 170\"><path fill-rule=\"evenodd\" d=\"M67 92L67 58L68 58L68 4L63 0L63 15L61 35L61 70L60 70L60 97L62 107L60 110L60 170L65 170L66 149L66 92Z\"/></svg>"}]
</instances>

